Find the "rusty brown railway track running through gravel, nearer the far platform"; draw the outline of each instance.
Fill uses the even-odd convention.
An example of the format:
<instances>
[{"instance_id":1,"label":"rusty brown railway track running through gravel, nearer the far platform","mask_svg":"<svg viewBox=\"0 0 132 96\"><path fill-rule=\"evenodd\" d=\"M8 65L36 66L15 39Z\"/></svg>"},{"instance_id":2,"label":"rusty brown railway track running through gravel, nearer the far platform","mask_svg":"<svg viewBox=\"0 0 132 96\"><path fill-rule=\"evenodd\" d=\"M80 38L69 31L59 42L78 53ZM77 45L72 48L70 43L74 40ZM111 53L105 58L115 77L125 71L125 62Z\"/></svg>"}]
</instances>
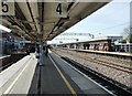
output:
<instances>
[{"instance_id":1,"label":"rusty brown railway track running through gravel, nearer the far platform","mask_svg":"<svg viewBox=\"0 0 132 96\"><path fill-rule=\"evenodd\" d=\"M58 54L56 51L54 51L54 53ZM72 53L68 53L68 54L74 55ZM123 66L123 65L119 65L119 64L114 64L114 63L97 60L96 57L95 58L92 58L92 57L85 57L85 56L79 55L79 54L77 54L75 56L79 57L79 58L82 58L82 60L86 60L86 61L89 61L89 62L92 62L92 63L96 63L96 64L105 65L105 66L108 66L108 67L111 67L111 68L116 68L116 70L122 71L122 72L127 72L127 73L132 74L132 67L128 67L128 66Z\"/></svg>"}]
</instances>

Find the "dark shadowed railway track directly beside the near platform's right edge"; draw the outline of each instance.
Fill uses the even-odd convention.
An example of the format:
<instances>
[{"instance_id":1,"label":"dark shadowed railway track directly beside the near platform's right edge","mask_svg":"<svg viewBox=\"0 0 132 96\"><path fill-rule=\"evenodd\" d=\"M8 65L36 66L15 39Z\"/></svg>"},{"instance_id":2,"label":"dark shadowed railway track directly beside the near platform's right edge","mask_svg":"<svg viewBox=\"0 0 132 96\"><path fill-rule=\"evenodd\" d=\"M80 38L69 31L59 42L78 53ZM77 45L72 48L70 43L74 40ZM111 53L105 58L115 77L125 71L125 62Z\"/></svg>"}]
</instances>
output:
<instances>
[{"instance_id":1,"label":"dark shadowed railway track directly beside the near platform's right edge","mask_svg":"<svg viewBox=\"0 0 132 96\"><path fill-rule=\"evenodd\" d=\"M114 81L105 77L103 75L68 58L68 57L64 57L62 56L63 60L65 60L66 62L68 62L69 64L72 64L74 67L78 68L80 72L82 72L84 74L86 74L88 77L90 77L91 79L96 81L98 84L100 84L101 86L103 86L105 88L107 88L108 90L110 90L111 93L113 93L113 96L131 96L132 92L130 89L124 89L122 87L120 87L119 85L116 84Z\"/></svg>"}]
</instances>

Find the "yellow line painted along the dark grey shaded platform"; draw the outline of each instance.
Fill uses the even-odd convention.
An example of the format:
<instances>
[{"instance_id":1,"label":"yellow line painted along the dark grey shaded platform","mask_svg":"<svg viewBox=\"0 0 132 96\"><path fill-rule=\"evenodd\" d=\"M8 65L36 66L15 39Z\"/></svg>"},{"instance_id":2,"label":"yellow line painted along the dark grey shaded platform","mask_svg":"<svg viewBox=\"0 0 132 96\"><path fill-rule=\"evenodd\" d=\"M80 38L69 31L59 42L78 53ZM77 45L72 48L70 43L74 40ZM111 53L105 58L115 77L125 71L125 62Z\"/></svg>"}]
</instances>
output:
<instances>
[{"instance_id":1,"label":"yellow line painted along the dark grey shaded platform","mask_svg":"<svg viewBox=\"0 0 132 96\"><path fill-rule=\"evenodd\" d=\"M50 56L50 55L48 55ZM59 75L62 76L62 78L64 79L66 86L69 88L70 93L73 94L73 96L77 96L76 92L74 90L74 88L70 86L70 84L68 83L68 81L66 79L66 77L63 75L63 73L61 72L61 70L57 67L57 65L55 64L55 62L52 60L52 57L50 56L51 61L53 62L54 66L56 67L57 72L59 73Z\"/></svg>"}]
</instances>

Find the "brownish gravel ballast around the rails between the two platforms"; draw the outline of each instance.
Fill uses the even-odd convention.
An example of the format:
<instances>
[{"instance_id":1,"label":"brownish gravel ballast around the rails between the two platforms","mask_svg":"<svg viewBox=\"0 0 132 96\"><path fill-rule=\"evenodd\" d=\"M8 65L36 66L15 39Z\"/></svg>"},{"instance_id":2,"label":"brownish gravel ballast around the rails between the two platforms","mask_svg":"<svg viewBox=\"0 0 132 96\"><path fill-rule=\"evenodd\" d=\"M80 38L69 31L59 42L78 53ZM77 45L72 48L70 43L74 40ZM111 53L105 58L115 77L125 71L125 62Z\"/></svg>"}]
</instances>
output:
<instances>
[{"instance_id":1,"label":"brownish gravel ballast around the rails between the two platforms","mask_svg":"<svg viewBox=\"0 0 132 96\"><path fill-rule=\"evenodd\" d=\"M110 77L128 87L131 87L131 75L130 73L122 72L109 66L100 65L94 62L89 62L87 60L84 60L81 57L92 57L95 60L103 60L107 62L116 63L118 65L124 65L124 66L130 66L130 61L123 60L123 58L117 58L117 57L110 57L110 56L100 56L100 55L95 55L95 54L89 54L89 53L80 53L80 52L75 52L75 51L69 51L69 50L61 50L61 49L55 49L53 50L54 53L57 53L61 56L67 56L87 67L90 67L91 70L103 74L107 77ZM81 57L80 57L81 56Z\"/></svg>"}]
</instances>

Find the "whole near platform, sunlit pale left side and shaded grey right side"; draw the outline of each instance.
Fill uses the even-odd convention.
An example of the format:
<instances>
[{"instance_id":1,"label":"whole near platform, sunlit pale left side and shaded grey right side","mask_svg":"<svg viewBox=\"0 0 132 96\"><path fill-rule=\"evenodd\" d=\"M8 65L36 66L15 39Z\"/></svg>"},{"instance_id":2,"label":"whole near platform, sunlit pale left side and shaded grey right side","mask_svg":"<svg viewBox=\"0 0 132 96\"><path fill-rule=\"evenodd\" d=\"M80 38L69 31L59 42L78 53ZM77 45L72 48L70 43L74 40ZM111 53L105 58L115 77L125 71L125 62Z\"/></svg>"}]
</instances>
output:
<instances>
[{"instance_id":1,"label":"whole near platform, sunlit pale left side and shaded grey right side","mask_svg":"<svg viewBox=\"0 0 132 96\"><path fill-rule=\"evenodd\" d=\"M23 63L25 60L26 62ZM4 89L1 94L112 95L52 52L48 56L44 56L44 64L41 66L36 63L35 54L25 56L19 63L10 66L13 70L6 70L4 73L1 73L2 75L8 73L10 76L11 72L14 71L14 74L9 78L4 77L10 81L3 82L1 89ZM16 67L18 70L15 70Z\"/></svg>"}]
</instances>

